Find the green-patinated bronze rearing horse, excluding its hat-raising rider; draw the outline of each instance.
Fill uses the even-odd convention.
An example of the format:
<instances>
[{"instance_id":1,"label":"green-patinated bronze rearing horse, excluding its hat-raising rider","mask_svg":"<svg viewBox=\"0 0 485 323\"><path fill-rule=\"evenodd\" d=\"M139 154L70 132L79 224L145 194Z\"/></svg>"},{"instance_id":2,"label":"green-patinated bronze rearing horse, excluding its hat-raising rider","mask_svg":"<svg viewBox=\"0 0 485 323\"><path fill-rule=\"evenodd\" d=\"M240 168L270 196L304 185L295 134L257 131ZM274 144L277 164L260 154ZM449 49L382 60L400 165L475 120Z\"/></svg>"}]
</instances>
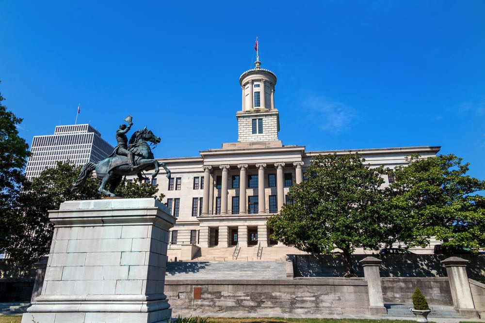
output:
<instances>
[{"instance_id":1,"label":"green-patinated bronze rearing horse, excluding its hat-raising rider","mask_svg":"<svg viewBox=\"0 0 485 323\"><path fill-rule=\"evenodd\" d=\"M155 178L158 175L160 166L162 166L167 172L167 178L170 178L170 170L164 163L159 162L153 157L147 141L157 144L161 139L155 136L151 130L147 130L146 127L136 131L129 139L128 149L135 155L134 159L136 163L136 167L132 170L129 167L127 157L113 153L99 163L88 162L84 164L71 190L74 192L80 189L86 183L86 179L91 175L93 170L96 170L96 176L101 180L101 185L97 189L98 192L108 196L116 196L114 190L120 185L123 176L136 174L138 178L143 179L141 175L142 171L155 169L152 174L152 178ZM110 184L110 188L106 190L105 185L108 183Z\"/></svg>"}]
</instances>

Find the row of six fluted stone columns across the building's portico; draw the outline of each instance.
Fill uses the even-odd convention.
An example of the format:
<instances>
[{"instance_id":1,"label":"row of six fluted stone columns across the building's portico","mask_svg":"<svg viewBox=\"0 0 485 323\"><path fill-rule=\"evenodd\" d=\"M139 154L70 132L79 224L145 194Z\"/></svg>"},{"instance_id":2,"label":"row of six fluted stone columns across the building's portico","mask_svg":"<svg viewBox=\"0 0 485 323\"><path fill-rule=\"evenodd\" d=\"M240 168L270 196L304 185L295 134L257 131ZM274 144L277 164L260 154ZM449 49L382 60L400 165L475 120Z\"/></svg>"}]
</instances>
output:
<instances>
[{"instance_id":1,"label":"row of six fluted stone columns across the building's portico","mask_svg":"<svg viewBox=\"0 0 485 323\"><path fill-rule=\"evenodd\" d=\"M286 164L283 162L275 163L276 168L276 200L278 212L285 203L285 192L284 192L284 174L283 167ZM296 168L296 184L300 184L303 181L303 162L297 161L293 162L293 166ZM222 183L221 183L221 215L227 214L227 180L229 165L219 165L222 169ZM246 204L246 169L248 164L238 164L239 168L239 214L247 213ZM264 169L266 168L266 163L257 163L256 168L258 169L258 213L266 213L265 205L265 194L264 194ZM209 200L210 200L210 169L212 166L203 166L204 169L204 199L202 200L202 215L209 214Z\"/></svg>"}]
</instances>

